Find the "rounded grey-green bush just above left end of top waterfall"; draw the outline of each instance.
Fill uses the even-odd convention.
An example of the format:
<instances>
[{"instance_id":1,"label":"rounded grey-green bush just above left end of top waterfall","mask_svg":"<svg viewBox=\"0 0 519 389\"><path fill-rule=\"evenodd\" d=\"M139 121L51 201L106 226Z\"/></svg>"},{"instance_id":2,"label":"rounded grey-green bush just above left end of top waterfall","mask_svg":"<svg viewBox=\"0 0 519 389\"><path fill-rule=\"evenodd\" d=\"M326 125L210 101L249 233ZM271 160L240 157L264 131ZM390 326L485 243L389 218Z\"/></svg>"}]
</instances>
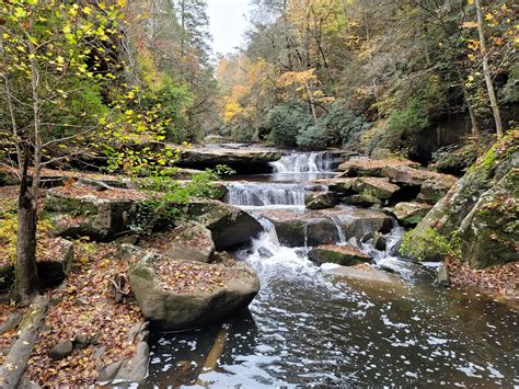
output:
<instances>
[{"instance_id":1,"label":"rounded grey-green bush just above left end of top waterfall","mask_svg":"<svg viewBox=\"0 0 519 389\"><path fill-rule=\"evenodd\" d=\"M268 140L278 146L297 146L298 135L312 125L312 117L301 104L281 104L267 114Z\"/></svg>"}]
</instances>

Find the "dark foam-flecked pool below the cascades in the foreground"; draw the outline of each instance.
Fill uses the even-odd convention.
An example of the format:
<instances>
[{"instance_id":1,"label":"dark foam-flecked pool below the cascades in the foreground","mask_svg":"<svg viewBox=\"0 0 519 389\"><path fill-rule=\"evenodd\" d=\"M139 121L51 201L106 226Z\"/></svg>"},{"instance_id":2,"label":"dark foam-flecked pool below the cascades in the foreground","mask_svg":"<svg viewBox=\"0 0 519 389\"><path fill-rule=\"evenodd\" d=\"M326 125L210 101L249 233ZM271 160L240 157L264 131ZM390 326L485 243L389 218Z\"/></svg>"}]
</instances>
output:
<instances>
[{"instance_id":1,"label":"dark foam-flecked pool below the cascades in the foreground","mask_svg":"<svg viewBox=\"0 0 519 389\"><path fill-rule=\"evenodd\" d=\"M275 266L277 275L268 263L258 268L269 278L249 314L155 334L148 382L519 385L519 316L505 306L422 284L335 281L313 265L301 275L293 261ZM222 325L218 364L204 369Z\"/></svg>"}]
</instances>

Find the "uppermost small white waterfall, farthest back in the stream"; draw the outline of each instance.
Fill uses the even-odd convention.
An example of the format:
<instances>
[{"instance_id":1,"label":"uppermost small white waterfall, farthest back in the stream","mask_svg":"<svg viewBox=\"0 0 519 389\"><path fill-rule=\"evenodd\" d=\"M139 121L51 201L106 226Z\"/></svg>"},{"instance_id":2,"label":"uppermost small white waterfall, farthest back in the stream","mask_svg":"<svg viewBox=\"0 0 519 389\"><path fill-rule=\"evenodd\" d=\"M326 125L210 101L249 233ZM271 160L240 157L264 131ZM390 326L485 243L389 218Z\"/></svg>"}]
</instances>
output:
<instances>
[{"instance_id":1,"label":"uppermost small white waterfall, farthest back in the stream","mask_svg":"<svg viewBox=\"0 0 519 389\"><path fill-rule=\"evenodd\" d=\"M336 160L327 151L295 152L270 163L274 172L280 174L325 173L331 172L334 164L336 164Z\"/></svg>"}]
</instances>

